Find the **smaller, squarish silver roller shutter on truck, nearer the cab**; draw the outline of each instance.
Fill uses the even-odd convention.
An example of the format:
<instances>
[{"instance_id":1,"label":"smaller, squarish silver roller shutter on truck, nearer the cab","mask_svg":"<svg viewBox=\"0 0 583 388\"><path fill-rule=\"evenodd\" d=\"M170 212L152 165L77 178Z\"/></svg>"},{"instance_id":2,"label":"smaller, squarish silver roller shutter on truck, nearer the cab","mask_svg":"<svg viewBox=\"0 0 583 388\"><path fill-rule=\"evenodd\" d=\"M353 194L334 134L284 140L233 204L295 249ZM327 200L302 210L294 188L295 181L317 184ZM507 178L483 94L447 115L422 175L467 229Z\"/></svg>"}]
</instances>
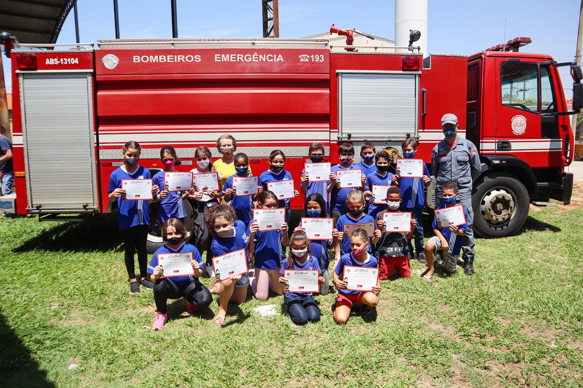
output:
<instances>
[{"instance_id":1,"label":"smaller, squarish silver roller shutter on truck, nearer the cab","mask_svg":"<svg viewBox=\"0 0 583 388\"><path fill-rule=\"evenodd\" d=\"M339 73L338 135L405 139L417 135L415 74Z\"/></svg>"}]
</instances>

